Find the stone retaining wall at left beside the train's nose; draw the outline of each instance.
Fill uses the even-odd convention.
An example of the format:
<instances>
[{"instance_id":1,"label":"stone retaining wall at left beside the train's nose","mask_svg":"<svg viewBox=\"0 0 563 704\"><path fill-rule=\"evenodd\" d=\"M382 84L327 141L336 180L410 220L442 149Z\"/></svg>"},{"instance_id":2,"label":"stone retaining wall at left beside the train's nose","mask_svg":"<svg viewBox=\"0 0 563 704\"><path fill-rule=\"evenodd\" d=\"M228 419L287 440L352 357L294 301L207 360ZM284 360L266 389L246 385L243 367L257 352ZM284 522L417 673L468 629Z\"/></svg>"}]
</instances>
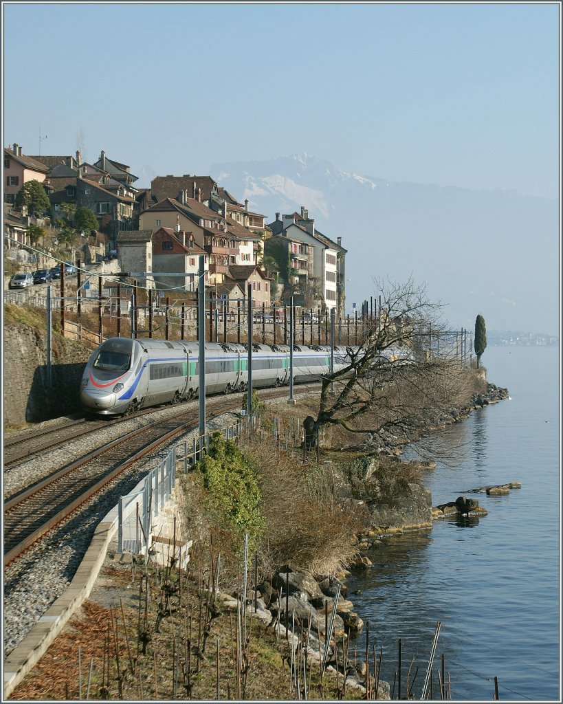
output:
<instances>
[{"instance_id":1,"label":"stone retaining wall at left beside the train's nose","mask_svg":"<svg viewBox=\"0 0 563 704\"><path fill-rule=\"evenodd\" d=\"M77 413L82 371L91 350L53 334L51 389L47 386L46 332L4 325L4 423L19 425Z\"/></svg>"}]
</instances>

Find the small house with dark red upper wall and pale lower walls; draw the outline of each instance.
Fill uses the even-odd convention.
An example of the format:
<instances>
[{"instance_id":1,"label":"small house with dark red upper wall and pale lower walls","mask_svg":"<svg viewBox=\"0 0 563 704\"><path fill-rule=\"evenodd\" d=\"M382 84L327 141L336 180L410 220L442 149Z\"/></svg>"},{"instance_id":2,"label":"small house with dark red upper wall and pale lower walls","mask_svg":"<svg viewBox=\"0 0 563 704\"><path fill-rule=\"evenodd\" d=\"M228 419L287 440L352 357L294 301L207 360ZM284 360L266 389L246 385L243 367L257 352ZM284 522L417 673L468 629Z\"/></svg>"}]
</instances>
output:
<instances>
[{"instance_id":1,"label":"small house with dark red upper wall and pale lower walls","mask_svg":"<svg viewBox=\"0 0 563 704\"><path fill-rule=\"evenodd\" d=\"M159 227L152 237L153 272L156 287L170 291L198 290L199 258L204 256L204 270L208 272L209 263L205 250L199 246L191 232ZM184 276L165 276L179 274ZM205 275L207 282L208 275Z\"/></svg>"}]
</instances>

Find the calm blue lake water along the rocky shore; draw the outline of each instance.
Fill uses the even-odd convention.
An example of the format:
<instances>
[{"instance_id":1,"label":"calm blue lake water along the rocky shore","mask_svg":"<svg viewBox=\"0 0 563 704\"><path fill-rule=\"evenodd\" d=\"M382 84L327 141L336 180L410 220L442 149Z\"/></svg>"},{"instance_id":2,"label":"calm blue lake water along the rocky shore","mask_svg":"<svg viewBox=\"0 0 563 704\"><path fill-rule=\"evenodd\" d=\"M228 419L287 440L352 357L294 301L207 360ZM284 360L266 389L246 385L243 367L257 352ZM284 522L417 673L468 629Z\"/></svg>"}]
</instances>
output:
<instances>
[{"instance_id":1,"label":"calm blue lake water along the rocky shore","mask_svg":"<svg viewBox=\"0 0 563 704\"><path fill-rule=\"evenodd\" d=\"M500 700L560 700L559 348L488 347L481 362L511 398L438 434L457 463L438 461L424 483L434 505L467 494L488 515L386 539L348 590L362 592L351 598L391 686L400 639L403 698L413 659L409 685L422 692L439 621L434 698L444 653L454 700L492 700L495 676ZM512 481L522 486L510 496L467 493ZM365 655L365 631L357 645Z\"/></svg>"}]
</instances>

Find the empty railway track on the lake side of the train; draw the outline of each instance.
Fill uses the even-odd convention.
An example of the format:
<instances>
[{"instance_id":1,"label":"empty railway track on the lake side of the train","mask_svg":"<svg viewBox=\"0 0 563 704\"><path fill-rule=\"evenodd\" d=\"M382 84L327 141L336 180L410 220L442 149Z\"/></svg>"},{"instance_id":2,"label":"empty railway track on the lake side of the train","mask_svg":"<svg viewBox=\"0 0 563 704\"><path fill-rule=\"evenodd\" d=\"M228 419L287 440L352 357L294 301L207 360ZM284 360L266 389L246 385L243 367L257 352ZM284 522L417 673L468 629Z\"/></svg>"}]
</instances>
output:
<instances>
[{"instance_id":1,"label":"empty railway track on the lake side of the train","mask_svg":"<svg viewBox=\"0 0 563 704\"><path fill-rule=\"evenodd\" d=\"M286 395L287 389L268 389L262 397ZM213 399L209 406L209 410L213 408L213 415L219 415L239 410L240 399L220 397ZM143 425L8 499L4 503L4 569L108 484L117 479L125 481L144 455L195 428L197 417L198 409L192 407L165 420Z\"/></svg>"}]
</instances>

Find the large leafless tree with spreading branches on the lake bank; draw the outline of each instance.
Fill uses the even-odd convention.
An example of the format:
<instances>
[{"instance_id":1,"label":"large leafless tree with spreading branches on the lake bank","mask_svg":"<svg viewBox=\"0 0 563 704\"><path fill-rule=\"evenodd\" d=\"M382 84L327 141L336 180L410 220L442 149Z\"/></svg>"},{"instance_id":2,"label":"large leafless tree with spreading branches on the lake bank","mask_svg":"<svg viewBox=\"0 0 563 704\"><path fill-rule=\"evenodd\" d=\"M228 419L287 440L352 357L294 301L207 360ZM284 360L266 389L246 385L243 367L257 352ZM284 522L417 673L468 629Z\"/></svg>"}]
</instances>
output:
<instances>
[{"instance_id":1,"label":"large leafless tree with spreading branches on the lake bank","mask_svg":"<svg viewBox=\"0 0 563 704\"><path fill-rule=\"evenodd\" d=\"M376 284L381 303L361 343L346 348L345 367L323 377L317 417L305 419L309 446L327 426L370 434L376 444L389 434L412 441L433 415L467 400L467 373L445 344L443 305L411 278Z\"/></svg>"}]
</instances>

